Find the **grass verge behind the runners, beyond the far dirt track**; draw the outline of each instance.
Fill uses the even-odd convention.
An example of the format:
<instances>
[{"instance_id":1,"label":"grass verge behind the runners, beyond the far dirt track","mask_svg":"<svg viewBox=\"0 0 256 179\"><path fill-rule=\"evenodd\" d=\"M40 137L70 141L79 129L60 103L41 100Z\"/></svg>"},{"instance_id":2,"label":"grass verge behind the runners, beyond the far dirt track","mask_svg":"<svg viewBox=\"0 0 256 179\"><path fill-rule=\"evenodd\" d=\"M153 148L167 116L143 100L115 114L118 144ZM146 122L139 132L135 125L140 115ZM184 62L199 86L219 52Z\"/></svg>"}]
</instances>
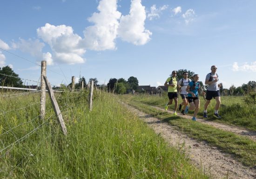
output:
<instances>
[{"instance_id":1,"label":"grass verge behind the runners, beyond the far dirt track","mask_svg":"<svg viewBox=\"0 0 256 179\"><path fill-rule=\"evenodd\" d=\"M162 97L151 95L134 95L129 96L129 98L133 101L159 107L163 107L168 102L167 94L162 95ZM244 102L243 96L224 96L221 97L221 100L222 104L219 109L219 114L222 116L222 119L216 119L212 116L216 104L215 99L212 99L207 109L209 120L215 120L217 122L226 123L229 125L241 126L253 131L256 130L256 105L247 105ZM200 97L200 101L201 104L198 117L202 118L204 105L204 100L202 97ZM181 102L182 99L179 98L179 104ZM174 102L169 108L174 109ZM193 115L193 111L190 111L189 115Z\"/></svg>"}]
</instances>

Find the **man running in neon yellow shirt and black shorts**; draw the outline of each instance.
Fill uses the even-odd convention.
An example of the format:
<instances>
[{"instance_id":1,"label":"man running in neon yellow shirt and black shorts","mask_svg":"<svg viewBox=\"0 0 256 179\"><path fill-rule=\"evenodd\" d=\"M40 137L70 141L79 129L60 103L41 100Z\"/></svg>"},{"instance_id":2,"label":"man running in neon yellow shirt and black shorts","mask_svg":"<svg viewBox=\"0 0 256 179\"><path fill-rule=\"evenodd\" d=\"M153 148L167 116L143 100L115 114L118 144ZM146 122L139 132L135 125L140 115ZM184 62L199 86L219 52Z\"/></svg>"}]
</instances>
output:
<instances>
[{"instance_id":1,"label":"man running in neon yellow shirt and black shorts","mask_svg":"<svg viewBox=\"0 0 256 179\"><path fill-rule=\"evenodd\" d=\"M164 86L168 86L168 98L169 98L169 102L166 103L164 108L165 108L165 110L167 110L168 106L172 104L173 99L174 99L175 106L174 106L173 115L175 115L175 116L177 116L176 110L178 107L177 83L178 83L177 71L173 71L172 75L164 83Z\"/></svg>"}]
</instances>

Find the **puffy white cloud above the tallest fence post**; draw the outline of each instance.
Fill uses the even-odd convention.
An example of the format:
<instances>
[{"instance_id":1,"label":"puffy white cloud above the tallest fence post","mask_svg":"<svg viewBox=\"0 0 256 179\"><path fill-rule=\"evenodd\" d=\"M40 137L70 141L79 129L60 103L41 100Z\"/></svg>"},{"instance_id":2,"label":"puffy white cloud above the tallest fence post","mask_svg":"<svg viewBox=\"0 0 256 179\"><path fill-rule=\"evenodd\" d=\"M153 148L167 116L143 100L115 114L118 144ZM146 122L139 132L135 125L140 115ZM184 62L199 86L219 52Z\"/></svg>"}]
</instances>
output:
<instances>
[{"instance_id":1,"label":"puffy white cloud above the tallest fence post","mask_svg":"<svg viewBox=\"0 0 256 179\"><path fill-rule=\"evenodd\" d=\"M72 27L47 23L44 27L37 29L37 35L52 48L54 61L67 64L85 62L82 58L85 49L80 46L82 38L73 33ZM49 54L44 56L50 57Z\"/></svg>"}]
</instances>

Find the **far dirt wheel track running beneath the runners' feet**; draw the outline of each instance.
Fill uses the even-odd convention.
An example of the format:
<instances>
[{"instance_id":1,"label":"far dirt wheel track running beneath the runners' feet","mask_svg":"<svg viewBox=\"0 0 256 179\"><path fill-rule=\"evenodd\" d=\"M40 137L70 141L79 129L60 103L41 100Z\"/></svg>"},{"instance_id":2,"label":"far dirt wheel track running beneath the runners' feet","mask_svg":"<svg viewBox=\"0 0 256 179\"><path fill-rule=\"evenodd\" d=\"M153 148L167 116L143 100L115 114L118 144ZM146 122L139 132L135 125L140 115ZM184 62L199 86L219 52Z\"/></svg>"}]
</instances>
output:
<instances>
[{"instance_id":1,"label":"far dirt wheel track running beneath the runners' feet","mask_svg":"<svg viewBox=\"0 0 256 179\"><path fill-rule=\"evenodd\" d=\"M156 108L158 110L161 110L161 111L165 111L161 107L156 107L156 106L151 106L151 107L154 107L154 108ZM169 110L166 111L166 112L173 113L173 111L169 111ZM182 118L185 118L185 119L191 119L192 118L189 115L182 115L181 113L178 113L178 114ZM221 124L221 123L217 123L217 122L213 122L213 121L209 121L209 120L204 120L204 119L200 119L200 118L196 118L196 119L197 119L197 122L205 123L205 124L208 124L210 126L214 126L216 128L219 128L219 129L222 129L222 130L225 130L225 131L229 131L229 132L232 132L232 133L243 135L243 136L248 137L249 139L252 139L252 140L256 141L256 131L248 131L246 129L242 129L241 127L229 126L229 125L225 125L225 124Z\"/></svg>"}]
</instances>

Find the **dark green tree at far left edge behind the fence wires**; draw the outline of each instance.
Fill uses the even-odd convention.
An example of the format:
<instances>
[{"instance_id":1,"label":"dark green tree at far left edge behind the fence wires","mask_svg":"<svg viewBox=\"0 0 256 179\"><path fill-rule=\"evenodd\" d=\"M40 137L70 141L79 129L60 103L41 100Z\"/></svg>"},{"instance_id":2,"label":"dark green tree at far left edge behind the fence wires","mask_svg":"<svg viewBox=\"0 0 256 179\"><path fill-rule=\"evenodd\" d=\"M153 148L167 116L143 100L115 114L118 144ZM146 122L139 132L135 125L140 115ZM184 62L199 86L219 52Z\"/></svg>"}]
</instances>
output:
<instances>
[{"instance_id":1,"label":"dark green tree at far left edge behind the fence wires","mask_svg":"<svg viewBox=\"0 0 256 179\"><path fill-rule=\"evenodd\" d=\"M12 68L10 68L9 66L3 66L2 68L0 68L0 73L1 86L22 86L22 81L19 78L19 75L14 73Z\"/></svg>"}]
</instances>

